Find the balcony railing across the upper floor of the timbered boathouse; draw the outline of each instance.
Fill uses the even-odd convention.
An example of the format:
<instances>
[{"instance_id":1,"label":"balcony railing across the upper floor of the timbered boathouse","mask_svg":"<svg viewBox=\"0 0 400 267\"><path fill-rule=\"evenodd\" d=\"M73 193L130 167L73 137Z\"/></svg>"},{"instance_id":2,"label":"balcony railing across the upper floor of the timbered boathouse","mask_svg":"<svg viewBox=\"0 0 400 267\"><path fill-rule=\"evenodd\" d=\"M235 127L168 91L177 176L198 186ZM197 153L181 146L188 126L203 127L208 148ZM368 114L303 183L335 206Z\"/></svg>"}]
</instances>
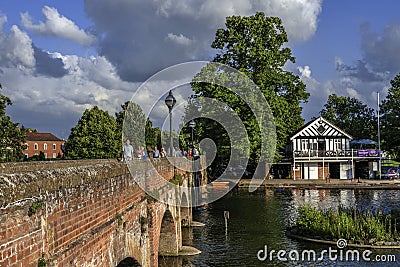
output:
<instances>
[{"instance_id":1,"label":"balcony railing across the upper floor of the timbered boathouse","mask_svg":"<svg viewBox=\"0 0 400 267\"><path fill-rule=\"evenodd\" d=\"M295 158L379 158L378 149L295 150Z\"/></svg>"}]
</instances>

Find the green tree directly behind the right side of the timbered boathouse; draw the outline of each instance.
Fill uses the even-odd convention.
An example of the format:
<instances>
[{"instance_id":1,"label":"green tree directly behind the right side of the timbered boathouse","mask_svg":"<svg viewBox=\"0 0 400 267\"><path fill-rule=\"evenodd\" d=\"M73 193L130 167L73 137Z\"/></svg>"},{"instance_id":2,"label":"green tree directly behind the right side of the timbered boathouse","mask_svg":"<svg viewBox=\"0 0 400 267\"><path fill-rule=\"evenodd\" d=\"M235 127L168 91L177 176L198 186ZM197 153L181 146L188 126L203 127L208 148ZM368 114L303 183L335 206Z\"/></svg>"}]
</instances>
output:
<instances>
[{"instance_id":1,"label":"green tree directly behind the right side of the timbered boathouse","mask_svg":"<svg viewBox=\"0 0 400 267\"><path fill-rule=\"evenodd\" d=\"M320 115L349 133L354 139L377 141L378 126L375 110L354 97L330 95Z\"/></svg>"}]
</instances>

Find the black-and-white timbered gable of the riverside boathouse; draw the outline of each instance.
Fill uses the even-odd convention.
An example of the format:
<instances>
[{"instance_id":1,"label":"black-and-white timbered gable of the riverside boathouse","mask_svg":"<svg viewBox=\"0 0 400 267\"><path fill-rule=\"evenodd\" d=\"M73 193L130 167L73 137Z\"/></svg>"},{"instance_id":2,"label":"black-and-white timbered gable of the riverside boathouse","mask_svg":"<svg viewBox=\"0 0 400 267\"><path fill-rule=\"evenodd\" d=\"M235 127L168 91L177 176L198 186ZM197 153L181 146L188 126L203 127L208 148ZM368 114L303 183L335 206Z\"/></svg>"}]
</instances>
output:
<instances>
[{"instance_id":1,"label":"black-and-white timbered gable of the riverside boathouse","mask_svg":"<svg viewBox=\"0 0 400 267\"><path fill-rule=\"evenodd\" d=\"M353 139L351 135L342 129L325 120L323 117L319 117L308 122L306 125L300 128L290 137L290 140L293 140L297 137L313 136L347 137L348 139Z\"/></svg>"}]
</instances>

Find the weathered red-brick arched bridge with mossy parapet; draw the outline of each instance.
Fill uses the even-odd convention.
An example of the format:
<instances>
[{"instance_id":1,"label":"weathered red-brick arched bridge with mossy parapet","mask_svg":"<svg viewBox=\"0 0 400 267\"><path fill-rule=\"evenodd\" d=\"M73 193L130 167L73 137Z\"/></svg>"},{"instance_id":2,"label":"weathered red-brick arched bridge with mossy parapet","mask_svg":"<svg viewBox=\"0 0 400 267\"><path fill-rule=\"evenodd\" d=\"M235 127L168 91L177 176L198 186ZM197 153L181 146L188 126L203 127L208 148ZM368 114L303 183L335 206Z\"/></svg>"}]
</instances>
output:
<instances>
[{"instance_id":1,"label":"weathered red-brick arched bridge with mossy parapet","mask_svg":"<svg viewBox=\"0 0 400 267\"><path fill-rule=\"evenodd\" d=\"M192 179L166 159L133 164L141 179ZM178 255L192 211L190 191L158 194L167 204L116 160L0 164L0 266L117 266L127 258L158 266L159 255Z\"/></svg>"}]
</instances>

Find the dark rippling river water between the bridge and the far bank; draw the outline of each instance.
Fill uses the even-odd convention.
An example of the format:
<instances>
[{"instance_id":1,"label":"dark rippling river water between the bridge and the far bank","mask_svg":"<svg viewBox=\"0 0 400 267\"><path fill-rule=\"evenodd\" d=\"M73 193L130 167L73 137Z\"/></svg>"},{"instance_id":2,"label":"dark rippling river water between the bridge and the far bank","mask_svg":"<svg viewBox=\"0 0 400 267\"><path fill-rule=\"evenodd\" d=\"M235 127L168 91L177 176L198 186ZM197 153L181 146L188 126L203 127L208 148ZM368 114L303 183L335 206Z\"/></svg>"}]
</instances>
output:
<instances>
[{"instance_id":1,"label":"dark rippling river water between the bridge and the far bank","mask_svg":"<svg viewBox=\"0 0 400 267\"><path fill-rule=\"evenodd\" d=\"M338 249L332 245L331 249L337 252L332 251L331 256L325 253L318 259L323 250L329 251L329 245L297 241L285 235L286 227L296 219L297 207L305 203L321 208L356 206L385 211L400 208L400 190L260 189L249 193L246 189L234 189L194 211L193 219L204 223L204 227L183 229L183 245L196 247L202 253L191 257L160 257L159 266L400 266L400 250L371 249L367 261L362 258L366 249L359 249L357 262L351 255L345 256L350 248ZM224 211L229 211L227 228ZM268 257L263 260L265 248ZM263 251L258 253L260 250ZM270 258L271 250L276 252ZM278 250L286 251L283 259L278 259ZM299 253L298 261L290 260L296 254L288 256L293 250ZM317 260L309 260L307 254L301 260L304 250L315 251ZM387 262L375 260L385 258Z\"/></svg>"}]
</instances>

